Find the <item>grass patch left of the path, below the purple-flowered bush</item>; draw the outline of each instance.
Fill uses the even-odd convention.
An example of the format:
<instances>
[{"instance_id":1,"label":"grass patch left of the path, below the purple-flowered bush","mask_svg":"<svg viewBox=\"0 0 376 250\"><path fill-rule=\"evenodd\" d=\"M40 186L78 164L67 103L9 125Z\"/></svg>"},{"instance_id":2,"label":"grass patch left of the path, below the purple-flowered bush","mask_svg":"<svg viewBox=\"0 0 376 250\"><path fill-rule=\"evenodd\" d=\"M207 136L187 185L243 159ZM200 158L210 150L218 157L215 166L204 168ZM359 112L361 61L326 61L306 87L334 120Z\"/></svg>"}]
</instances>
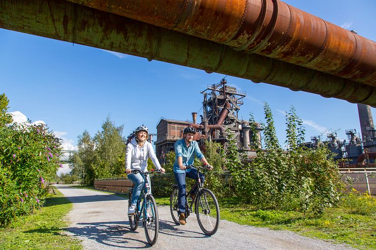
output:
<instances>
[{"instance_id":1,"label":"grass patch left of the path, below the purple-flowered bush","mask_svg":"<svg viewBox=\"0 0 376 250\"><path fill-rule=\"evenodd\" d=\"M82 249L79 240L65 234L66 215L73 204L60 192L49 195L41 211L0 228L0 249Z\"/></svg>"}]
</instances>

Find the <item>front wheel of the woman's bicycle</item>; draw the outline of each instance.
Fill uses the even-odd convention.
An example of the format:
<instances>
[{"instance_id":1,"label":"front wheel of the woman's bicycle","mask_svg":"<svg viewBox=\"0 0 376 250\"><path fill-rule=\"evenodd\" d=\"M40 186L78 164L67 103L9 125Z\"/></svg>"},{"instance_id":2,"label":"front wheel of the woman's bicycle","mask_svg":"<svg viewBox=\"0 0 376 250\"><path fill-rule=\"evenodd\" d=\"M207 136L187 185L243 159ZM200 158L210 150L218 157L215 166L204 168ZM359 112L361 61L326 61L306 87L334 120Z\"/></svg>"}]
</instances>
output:
<instances>
[{"instance_id":1,"label":"front wheel of the woman's bicycle","mask_svg":"<svg viewBox=\"0 0 376 250\"><path fill-rule=\"evenodd\" d=\"M154 197L148 195L145 199L144 207L144 228L146 239L150 245L154 245L157 242L158 230L159 230L159 220L158 220L158 210L157 204L155 203Z\"/></svg>"}]
</instances>

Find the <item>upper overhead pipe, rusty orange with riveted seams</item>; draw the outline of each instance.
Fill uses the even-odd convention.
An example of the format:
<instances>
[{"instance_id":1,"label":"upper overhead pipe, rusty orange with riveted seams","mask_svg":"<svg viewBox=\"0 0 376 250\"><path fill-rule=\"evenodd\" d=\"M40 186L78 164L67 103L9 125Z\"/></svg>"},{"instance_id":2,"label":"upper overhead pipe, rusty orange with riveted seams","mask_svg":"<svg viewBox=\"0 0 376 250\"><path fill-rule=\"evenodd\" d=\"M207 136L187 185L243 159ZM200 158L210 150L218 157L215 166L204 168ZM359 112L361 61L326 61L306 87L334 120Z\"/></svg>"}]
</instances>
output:
<instances>
[{"instance_id":1,"label":"upper overhead pipe, rusty orange with riveted seams","mask_svg":"<svg viewBox=\"0 0 376 250\"><path fill-rule=\"evenodd\" d=\"M279 0L71 2L376 86L376 43Z\"/></svg>"}]
</instances>

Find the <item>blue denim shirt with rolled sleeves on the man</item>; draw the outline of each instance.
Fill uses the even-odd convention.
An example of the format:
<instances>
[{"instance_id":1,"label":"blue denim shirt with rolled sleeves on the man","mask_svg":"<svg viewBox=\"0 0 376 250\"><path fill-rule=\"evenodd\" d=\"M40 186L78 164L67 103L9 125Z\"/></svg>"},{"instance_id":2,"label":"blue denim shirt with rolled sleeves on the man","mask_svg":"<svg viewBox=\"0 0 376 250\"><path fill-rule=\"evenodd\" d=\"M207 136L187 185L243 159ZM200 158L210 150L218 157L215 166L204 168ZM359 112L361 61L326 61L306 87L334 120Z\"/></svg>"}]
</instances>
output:
<instances>
[{"instance_id":1,"label":"blue denim shirt with rolled sleeves on the man","mask_svg":"<svg viewBox=\"0 0 376 250\"><path fill-rule=\"evenodd\" d=\"M184 173L185 170L180 170L179 165L177 164L177 157L183 157L183 165L192 165L195 160L195 154L199 159L204 158L204 154L199 148L197 141L192 141L191 144L187 147L185 145L184 138L175 142L175 162L174 162L174 173ZM187 172L191 171L186 170Z\"/></svg>"}]
</instances>

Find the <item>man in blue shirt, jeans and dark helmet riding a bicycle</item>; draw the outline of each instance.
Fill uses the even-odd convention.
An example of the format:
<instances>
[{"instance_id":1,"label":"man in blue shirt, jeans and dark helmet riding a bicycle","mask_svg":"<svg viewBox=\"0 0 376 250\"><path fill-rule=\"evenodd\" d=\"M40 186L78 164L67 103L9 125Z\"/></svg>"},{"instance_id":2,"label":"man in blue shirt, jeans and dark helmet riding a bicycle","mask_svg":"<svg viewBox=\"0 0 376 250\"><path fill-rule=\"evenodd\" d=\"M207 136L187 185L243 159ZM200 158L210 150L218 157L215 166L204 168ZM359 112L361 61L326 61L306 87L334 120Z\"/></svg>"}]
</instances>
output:
<instances>
[{"instance_id":1,"label":"man in blue shirt, jeans and dark helmet riding a bicycle","mask_svg":"<svg viewBox=\"0 0 376 250\"><path fill-rule=\"evenodd\" d=\"M195 160L195 155L208 165L208 169L212 170L212 166L209 165L205 159L204 154L199 148L197 141L194 141L196 131L194 128L186 127L183 130L183 138L175 142L175 162L173 165L174 176L178 186L177 205L179 213L179 223L185 225L185 177L197 180L197 170L188 169L185 166L192 165ZM200 174L201 183L204 183L204 175ZM196 190L193 190L195 192ZM192 197L191 197L192 198Z\"/></svg>"}]
</instances>

